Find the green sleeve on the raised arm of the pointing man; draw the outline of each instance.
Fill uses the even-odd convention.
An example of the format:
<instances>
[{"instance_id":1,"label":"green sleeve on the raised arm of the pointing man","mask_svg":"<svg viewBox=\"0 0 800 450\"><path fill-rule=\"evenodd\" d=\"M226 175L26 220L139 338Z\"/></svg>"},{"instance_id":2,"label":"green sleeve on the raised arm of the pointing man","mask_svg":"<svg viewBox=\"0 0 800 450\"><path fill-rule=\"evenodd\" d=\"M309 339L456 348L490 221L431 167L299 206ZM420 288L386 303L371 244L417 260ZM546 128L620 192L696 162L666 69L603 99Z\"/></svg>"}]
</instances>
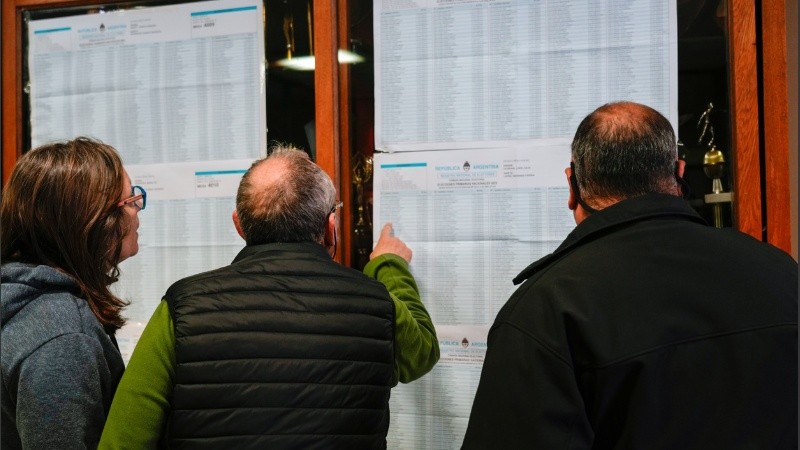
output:
<instances>
[{"instance_id":1,"label":"green sleeve on the raised arm of the pointing man","mask_svg":"<svg viewBox=\"0 0 800 450\"><path fill-rule=\"evenodd\" d=\"M384 254L370 260L364 274L386 286L394 301L393 384L414 381L439 361L439 340L408 263L397 255Z\"/></svg>"}]
</instances>

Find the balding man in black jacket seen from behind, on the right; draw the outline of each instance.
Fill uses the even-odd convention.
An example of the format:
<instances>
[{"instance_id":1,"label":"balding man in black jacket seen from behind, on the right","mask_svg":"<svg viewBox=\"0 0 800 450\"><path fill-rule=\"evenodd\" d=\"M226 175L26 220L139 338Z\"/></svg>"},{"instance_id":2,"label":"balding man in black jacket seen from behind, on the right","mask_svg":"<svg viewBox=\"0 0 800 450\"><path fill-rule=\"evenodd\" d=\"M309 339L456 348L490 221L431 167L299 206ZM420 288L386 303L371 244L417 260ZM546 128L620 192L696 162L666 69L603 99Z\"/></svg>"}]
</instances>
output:
<instances>
[{"instance_id":1,"label":"balding man in black jacket seen from behind, on the right","mask_svg":"<svg viewBox=\"0 0 800 450\"><path fill-rule=\"evenodd\" d=\"M635 103L580 124L578 226L514 280L464 449L797 448L797 263L704 223L675 144Z\"/></svg>"}]
</instances>

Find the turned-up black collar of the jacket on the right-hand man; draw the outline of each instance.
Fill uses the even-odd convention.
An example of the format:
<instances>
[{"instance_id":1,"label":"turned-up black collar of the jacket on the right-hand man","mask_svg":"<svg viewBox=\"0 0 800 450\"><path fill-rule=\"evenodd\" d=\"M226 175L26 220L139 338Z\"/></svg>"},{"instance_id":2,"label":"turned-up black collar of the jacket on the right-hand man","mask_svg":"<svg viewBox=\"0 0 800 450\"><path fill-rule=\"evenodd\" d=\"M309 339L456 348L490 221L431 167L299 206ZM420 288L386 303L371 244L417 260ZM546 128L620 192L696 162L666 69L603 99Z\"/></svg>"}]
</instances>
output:
<instances>
[{"instance_id":1,"label":"turned-up black collar of the jacket on the right-hand man","mask_svg":"<svg viewBox=\"0 0 800 450\"><path fill-rule=\"evenodd\" d=\"M553 253L544 256L520 272L514 278L514 284L522 283L541 268L573 248L595 239L600 234L607 233L621 225L654 218L671 218L707 225L706 221L686 203L686 200L680 197L667 194L647 194L629 198L587 217L567 235L564 242Z\"/></svg>"}]
</instances>

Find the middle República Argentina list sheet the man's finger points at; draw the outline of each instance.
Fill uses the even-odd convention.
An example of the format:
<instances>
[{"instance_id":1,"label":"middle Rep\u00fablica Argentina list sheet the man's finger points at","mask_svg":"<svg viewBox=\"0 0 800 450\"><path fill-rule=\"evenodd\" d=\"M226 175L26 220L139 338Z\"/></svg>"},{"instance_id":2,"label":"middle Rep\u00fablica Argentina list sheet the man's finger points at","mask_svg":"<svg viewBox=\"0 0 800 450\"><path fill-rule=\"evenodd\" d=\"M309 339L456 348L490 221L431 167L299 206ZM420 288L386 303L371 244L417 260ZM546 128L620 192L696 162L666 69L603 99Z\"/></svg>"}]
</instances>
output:
<instances>
[{"instance_id":1,"label":"middle Rep\u00fablica Argentina list sheet the man's finger points at","mask_svg":"<svg viewBox=\"0 0 800 450\"><path fill-rule=\"evenodd\" d=\"M414 252L437 325L490 325L511 280L574 228L566 141L536 148L375 155L373 239L382 225Z\"/></svg>"}]
</instances>

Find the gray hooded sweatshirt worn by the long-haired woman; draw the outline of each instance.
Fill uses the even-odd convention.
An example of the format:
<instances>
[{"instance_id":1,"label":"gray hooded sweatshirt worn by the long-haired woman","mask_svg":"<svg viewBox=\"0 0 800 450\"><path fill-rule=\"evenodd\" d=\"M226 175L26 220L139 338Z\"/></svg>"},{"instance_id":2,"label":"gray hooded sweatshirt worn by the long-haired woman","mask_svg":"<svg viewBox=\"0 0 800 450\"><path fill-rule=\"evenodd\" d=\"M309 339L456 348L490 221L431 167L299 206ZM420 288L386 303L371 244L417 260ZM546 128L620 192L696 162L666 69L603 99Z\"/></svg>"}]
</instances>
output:
<instances>
[{"instance_id":1,"label":"gray hooded sweatshirt worn by the long-haired woman","mask_svg":"<svg viewBox=\"0 0 800 450\"><path fill-rule=\"evenodd\" d=\"M125 370L77 283L49 266L0 268L0 449L96 448Z\"/></svg>"}]
</instances>

